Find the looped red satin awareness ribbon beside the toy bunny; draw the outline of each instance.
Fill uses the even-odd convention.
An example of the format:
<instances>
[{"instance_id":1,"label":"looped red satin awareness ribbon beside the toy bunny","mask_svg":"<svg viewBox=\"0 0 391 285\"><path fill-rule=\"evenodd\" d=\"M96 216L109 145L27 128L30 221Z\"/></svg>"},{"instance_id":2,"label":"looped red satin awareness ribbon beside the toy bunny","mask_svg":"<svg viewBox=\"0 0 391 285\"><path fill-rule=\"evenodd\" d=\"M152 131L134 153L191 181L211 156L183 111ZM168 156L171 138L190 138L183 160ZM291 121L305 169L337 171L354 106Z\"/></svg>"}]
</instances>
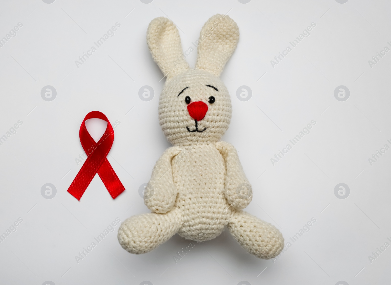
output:
<instances>
[{"instance_id":1,"label":"looped red satin awareness ribbon beside the toy bunny","mask_svg":"<svg viewBox=\"0 0 391 285\"><path fill-rule=\"evenodd\" d=\"M88 133L85 124L86 120L91 118L99 118L107 122L106 131L97 143ZM111 197L115 199L119 194L124 192L125 187L106 158L114 141L114 130L106 115L99 111L88 113L81 123L79 136L81 145L88 157L84 161L74 181L69 186L68 192L80 201L81 196L83 196L84 191L90 185L91 180L98 173Z\"/></svg>"}]
</instances>

